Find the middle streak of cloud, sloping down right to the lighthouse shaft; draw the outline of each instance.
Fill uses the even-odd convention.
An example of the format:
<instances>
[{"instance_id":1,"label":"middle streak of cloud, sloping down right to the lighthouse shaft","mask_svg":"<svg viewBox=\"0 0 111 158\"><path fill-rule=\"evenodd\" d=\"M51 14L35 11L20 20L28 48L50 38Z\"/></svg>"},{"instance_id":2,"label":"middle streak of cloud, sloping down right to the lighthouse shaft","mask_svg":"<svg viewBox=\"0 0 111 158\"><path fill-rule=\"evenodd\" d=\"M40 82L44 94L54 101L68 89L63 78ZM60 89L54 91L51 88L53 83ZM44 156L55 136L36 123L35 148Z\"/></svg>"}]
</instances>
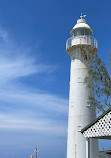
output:
<instances>
[{"instance_id":1,"label":"middle streak of cloud, sloping down right to the lighthouse shaft","mask_svg":"<svg viewBox=\"0 0 111 158\"><path fill-rule=\"evenodd\" d=\"M18 88L17 88L18 89ZM43 93L43 92L26 92L26 91L1 91L0 100L7 98L8 103L16 102L20 105L27 105L27 108L36 107L38 110L44 110L47 112L57 112L58 114L67 114L68 101L60 97ZM23 108L23 107L22 107Z\"/></svg>"}]
</instances>

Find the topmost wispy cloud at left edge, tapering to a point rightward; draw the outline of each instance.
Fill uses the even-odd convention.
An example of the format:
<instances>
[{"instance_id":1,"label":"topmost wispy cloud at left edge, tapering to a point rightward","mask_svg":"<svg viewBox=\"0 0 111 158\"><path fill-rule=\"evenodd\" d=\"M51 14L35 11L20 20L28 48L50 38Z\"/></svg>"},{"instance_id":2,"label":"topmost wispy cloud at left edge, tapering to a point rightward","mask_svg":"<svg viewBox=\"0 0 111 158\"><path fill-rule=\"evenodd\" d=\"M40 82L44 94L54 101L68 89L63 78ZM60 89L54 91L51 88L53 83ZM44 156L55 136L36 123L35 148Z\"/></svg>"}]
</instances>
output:
<instances>
[{"instance_id":1,"label":"topmost wispy cloud at left edge, tapering to a point rightward","mask_svg":"<svg viewBox=\"0 0 111 158\"><path fill-rule=\"evenodd\" d=\"M52 73L57 69L54 64L42 64L32 54L30 48L21 48L0 28L0 83L31 74Z\"/></svg>"}]
</instances>

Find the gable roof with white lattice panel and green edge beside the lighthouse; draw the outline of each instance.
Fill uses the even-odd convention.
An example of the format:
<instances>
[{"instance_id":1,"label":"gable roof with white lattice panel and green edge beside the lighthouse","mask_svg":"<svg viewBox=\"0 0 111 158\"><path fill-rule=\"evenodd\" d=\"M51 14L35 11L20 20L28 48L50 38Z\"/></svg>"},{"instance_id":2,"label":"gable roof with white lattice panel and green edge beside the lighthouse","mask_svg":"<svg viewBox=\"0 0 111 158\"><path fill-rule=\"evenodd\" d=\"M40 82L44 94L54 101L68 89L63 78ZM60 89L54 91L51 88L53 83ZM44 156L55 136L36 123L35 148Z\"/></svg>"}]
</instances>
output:
<instances>
[{"instance_id":1,"label":"gable roof with white lattice panel and green edge beside the lighthouse","mask_svg":"<svg viewBox=\"0 0 111 158\"><path fill-rule=\"evenodd\" d=\"M81 130L84 137L111 139L111 108Z\"/></svg>"}]
</instances>

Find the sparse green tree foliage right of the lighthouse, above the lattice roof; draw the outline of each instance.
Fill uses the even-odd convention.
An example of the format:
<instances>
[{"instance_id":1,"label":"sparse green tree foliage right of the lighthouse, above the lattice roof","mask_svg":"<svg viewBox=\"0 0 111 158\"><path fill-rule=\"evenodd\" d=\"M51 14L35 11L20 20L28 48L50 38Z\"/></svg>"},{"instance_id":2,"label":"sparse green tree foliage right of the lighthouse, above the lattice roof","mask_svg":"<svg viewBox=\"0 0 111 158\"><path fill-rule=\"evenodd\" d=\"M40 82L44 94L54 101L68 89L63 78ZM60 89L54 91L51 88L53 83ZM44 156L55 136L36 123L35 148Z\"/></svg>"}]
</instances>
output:
<instances>
[{"instance_id":1,"label":"sparse green tree foliage right of the lighthouse, above the lattice roof","mask_svg":"<svg viewBox=\"0 0 111 158\"><path fill-rule=\"evenodd\" d=\"M110 58L111 69L111 58ZM90 97L90 101L97 106L99 110L105 111L111 107L111 77L101 58L94 55L93 66L89 68L89 76L85 82L88 87L94 88L95 98Z\"/></svg>"}]
</instances>

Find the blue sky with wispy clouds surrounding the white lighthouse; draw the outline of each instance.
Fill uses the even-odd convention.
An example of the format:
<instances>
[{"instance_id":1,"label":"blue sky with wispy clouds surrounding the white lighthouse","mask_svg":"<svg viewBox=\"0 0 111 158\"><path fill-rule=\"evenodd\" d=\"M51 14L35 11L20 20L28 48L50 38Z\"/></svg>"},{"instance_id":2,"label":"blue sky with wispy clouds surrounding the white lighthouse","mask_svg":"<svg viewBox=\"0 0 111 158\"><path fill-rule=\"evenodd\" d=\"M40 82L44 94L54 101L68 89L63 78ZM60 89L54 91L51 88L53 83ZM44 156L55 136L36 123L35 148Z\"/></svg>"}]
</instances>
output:
<instances>
[{"instance_id":1,"label":"blue sky with wispy clouds surrounding the white lighthouse","mask_svg":"<svg viewBox=\"0 0 111 158\"><path fill-rule=\"evenodd\" d=\"M65 158L70 57L65 42L81 12L107 67L111 1L0 0L0 155Z\"/></svg>"}]
</instances>

